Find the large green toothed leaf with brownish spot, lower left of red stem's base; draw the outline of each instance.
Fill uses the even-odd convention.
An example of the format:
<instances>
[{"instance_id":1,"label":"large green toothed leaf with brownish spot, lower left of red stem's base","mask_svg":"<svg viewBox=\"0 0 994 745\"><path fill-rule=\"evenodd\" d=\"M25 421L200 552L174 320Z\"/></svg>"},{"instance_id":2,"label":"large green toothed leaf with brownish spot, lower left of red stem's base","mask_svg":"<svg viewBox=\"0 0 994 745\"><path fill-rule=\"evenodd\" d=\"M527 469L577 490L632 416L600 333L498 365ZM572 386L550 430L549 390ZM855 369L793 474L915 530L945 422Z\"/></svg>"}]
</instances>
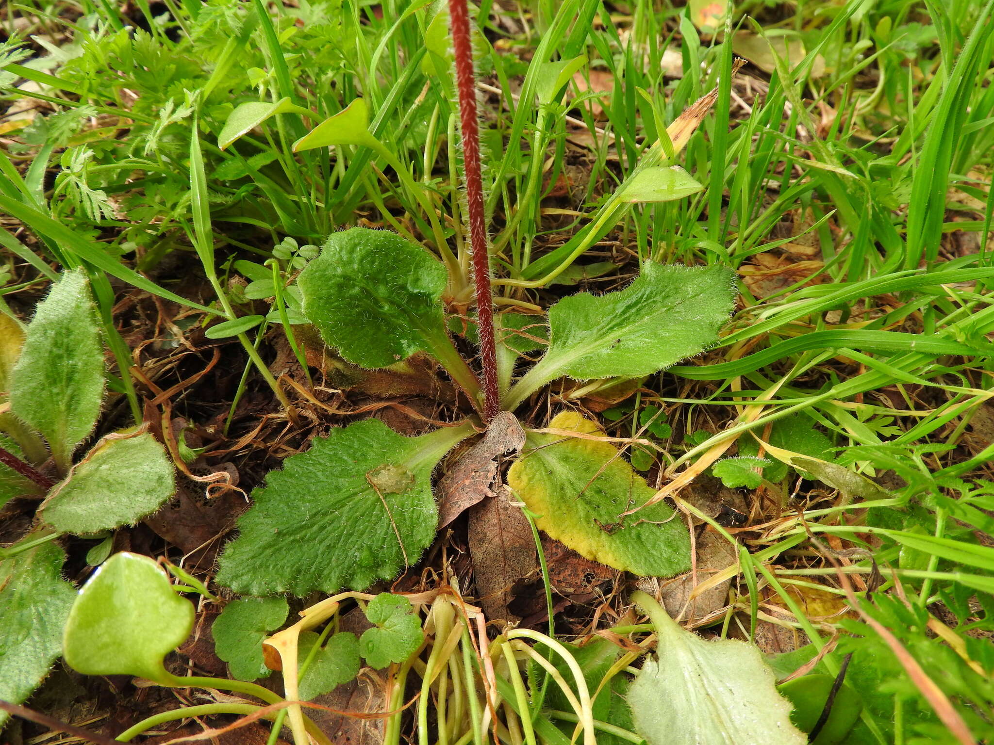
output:
<instances>
[{"instance_id":1,"label":"large green toothed leaf with brownish spot, lower left of red stem's base","mask_svg":"<svg viewBox=\"0 0 994 745\"><path fill-rule=\"evenodd\" d=\"M434 538L431 471L470 434L465 425L405 437L367 419L315 438L252 492L218 582L249 595L303 596L394 577Z\"/></svg>"}]
</instances>

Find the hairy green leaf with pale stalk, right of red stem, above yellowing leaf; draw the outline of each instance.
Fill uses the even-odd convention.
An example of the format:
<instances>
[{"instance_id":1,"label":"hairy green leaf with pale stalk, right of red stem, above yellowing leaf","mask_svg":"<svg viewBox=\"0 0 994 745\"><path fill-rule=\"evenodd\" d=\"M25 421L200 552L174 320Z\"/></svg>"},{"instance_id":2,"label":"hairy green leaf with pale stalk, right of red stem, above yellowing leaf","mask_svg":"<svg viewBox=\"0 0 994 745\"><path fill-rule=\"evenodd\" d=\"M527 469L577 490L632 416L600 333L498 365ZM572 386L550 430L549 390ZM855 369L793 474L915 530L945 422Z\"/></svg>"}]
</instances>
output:
<instances>
[{"instance_id":1,"label":"hairy green leaf with pale stalk, right of red stem, above yellowing leaf","mask_svg":"<svg viewBox=\"0 0 994 745\"><path fill-rule=\"evenodd\" d=\"M696 355L718 340L735 297L722 266L648 262L623 290L564 298L549 310L546 356L511 389L507 408L563 375L638 377Z\"/></svg>"}]
</instances>

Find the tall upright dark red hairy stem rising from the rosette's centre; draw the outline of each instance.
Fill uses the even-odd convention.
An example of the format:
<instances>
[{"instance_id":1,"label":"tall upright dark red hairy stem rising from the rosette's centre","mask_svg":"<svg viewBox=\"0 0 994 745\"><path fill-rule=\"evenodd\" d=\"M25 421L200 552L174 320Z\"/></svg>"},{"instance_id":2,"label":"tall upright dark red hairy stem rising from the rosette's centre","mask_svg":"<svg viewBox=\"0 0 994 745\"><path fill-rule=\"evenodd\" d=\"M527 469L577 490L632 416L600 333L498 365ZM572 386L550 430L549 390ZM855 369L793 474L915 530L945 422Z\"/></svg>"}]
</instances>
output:
<instances>
[{"instance_id":1,"label":"tall upright dark red hairy stem rising from the rosette's centre","mask_svg":"<svg viewBox=\"0 0 994 745\"><path fill-rule=\"evenodd\" d=\"M480 331L483 366L483 416L490 421L500 410L497 390L497 347L494 343L494 307L490 292L490 254L483 217L483 182L480 178L480 131L476 120L476 80L473 49L469 38L466 0L448 0L455 53L455 77L459 88L459 119L462 130L463 180L469 209L469 250L473 258L476 315Z\"/></svg>"}]
</instances>

